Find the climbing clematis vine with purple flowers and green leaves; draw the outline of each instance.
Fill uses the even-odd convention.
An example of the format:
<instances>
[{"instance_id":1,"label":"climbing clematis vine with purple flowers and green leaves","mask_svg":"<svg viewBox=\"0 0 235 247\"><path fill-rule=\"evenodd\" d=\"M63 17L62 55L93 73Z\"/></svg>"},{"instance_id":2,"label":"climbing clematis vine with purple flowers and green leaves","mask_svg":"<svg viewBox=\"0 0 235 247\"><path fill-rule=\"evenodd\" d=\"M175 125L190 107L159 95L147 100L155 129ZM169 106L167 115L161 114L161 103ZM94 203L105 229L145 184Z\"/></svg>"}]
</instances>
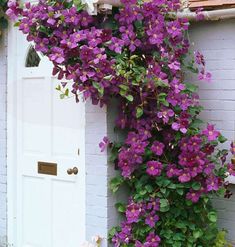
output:
<instances>
[{"instance_id":1,"label":"climbing clematis vine with purple flowers and green leaves","mask_svg":"<svg viewBox=\"0 0 235 247\"><path fill-rule=\"evenodd\" d=\"M123 222L110 231L113 245L209 247L217 238L218 246L211 198L230 197L225 178L234 170L218 148L226 139L213 125L200 130L197 86L184 79L193 72L209 81L211 74L201 53L190 55L188 20L172 14L179 0L122 3L110 16L90 16L80 1L20 8L11 0L7 14L53 62L62 98L71 93L78 101L83 93L101 107L119 101L116 127L126 139L100 144L120 170L111 189L129 187L129 201L116 205Z\"/></svg>"}]
</instances>

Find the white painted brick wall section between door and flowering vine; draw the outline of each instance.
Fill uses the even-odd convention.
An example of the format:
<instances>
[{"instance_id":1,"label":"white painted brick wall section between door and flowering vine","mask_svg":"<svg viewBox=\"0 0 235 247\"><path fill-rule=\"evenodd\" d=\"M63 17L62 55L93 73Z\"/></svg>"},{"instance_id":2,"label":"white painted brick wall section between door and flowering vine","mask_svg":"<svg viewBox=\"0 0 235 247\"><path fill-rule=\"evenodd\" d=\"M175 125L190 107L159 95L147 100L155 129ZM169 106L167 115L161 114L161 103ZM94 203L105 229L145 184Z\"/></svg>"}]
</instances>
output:
<instances>
[{"instance_id":1,"label":"white painted brick wall section between door and flowering vine","mask_svg":"<svg viewBox=\"0 0 235 247\"><path fill-rule=\"evenodd\" d=\"M108 188L115 170L108 162L108 153L101 153L98 145L104 136L111 141L121 137L114 133L116 116L116 102L108 109L86 104L86 235L88 240L95 235L104 237L104 247L108 246L109 230L118 224L114 205L120 195L114 196Z\"/></svg>"}]
</instances>

